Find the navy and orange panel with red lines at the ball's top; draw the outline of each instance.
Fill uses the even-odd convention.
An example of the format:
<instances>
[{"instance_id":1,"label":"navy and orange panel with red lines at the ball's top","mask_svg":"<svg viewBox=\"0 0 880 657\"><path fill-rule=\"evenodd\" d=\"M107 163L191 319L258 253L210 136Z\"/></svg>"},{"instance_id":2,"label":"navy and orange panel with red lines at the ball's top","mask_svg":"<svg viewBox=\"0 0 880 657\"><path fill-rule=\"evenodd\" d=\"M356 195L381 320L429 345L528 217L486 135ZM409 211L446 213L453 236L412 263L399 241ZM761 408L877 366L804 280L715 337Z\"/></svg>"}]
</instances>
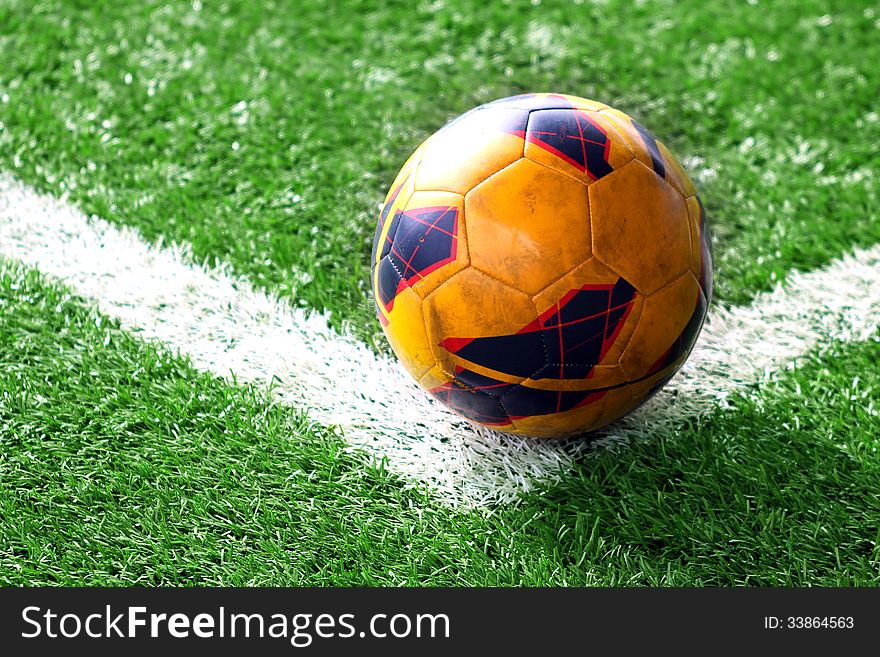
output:
<instances>
[{"instance_id":1,"label":"navy and orange panel with red lines at the ball's top","mask_svg":"<svg viewBox=\"0 0 880 657\"><path fill-rule=\"evenodd\" d=\"M529 114L525 156L585 184L632 161L632 151L607 119L578 109Z\"/></svg>"}]
</instances>

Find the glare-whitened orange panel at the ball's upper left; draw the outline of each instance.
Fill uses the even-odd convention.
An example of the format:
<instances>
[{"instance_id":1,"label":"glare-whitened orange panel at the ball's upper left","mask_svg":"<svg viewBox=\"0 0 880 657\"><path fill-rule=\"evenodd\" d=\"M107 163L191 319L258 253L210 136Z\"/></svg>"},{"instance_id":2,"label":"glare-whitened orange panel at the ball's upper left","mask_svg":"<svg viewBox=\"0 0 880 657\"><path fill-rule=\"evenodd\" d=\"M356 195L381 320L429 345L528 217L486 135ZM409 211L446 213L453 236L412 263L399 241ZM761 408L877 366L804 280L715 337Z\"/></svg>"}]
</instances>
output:
<instances>
[{"instance_id":1,"label":"glare-whitened orange panel at the ball's upper left","mask_svg":"<svg viewBox=\"0 0 880 657\"><path fill-rule=\"evenodd\" d=\"M470 112L434 135L416 174L416 189L465 194L522 156L528 112L490 108Z\"/></svg>"}]
</instances>

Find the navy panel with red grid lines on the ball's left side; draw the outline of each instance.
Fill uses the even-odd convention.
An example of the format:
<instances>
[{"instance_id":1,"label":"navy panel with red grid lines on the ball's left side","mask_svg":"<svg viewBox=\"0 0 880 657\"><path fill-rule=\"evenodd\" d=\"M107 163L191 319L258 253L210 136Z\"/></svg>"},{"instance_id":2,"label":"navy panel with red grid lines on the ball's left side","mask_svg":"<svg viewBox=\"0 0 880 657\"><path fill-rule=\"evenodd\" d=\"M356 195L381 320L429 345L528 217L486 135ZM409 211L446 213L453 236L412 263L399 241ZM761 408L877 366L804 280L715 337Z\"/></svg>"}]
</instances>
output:
<instances>
[{"instance_id":1,"label":"navy panel with red grid lines on the ball's left side","mask_svg":"<svg viewBox=\"0 0 880 657\"><path fill-rule=\"evenodd\" d=\"M427 296L468 264L464 198L451 192L416 192L394 206L382 231L373 291L380 315L387 315L403 288Z\"/></svg>"}]
</instances>

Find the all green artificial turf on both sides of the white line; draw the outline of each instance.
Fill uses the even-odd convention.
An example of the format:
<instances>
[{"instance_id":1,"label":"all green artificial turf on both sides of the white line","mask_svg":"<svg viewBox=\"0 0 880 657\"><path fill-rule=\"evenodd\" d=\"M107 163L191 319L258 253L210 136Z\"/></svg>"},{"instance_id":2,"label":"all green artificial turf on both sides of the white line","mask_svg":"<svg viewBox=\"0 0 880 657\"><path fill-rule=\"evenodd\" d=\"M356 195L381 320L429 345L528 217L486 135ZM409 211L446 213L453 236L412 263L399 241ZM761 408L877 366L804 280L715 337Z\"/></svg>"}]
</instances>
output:
<instances>
[{"instance_id":1,"label":"all green artificial turf on both sides of the white line","mask_svg":"<svg viewBox=\"0 0 880 657\"><path fill-rule=\"evenodd\" d=\"M0 26L0 168L377 346L386 186L521 91L615 105L684 159L720 303L880 240L867 4L12 0ZM450 512L4 263L0 583L876 585L880 345L831 347L516 508Z\"/></svg>"}]
</instances>

